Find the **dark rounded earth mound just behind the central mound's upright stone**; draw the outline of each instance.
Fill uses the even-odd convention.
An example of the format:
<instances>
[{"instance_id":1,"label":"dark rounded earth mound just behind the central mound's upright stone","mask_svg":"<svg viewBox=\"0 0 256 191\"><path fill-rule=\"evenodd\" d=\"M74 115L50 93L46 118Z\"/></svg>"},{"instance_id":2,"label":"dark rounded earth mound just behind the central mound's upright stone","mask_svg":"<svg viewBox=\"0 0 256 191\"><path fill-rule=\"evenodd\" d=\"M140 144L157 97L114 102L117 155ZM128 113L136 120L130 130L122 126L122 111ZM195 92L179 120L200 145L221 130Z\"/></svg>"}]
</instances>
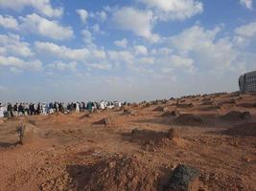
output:
<instances>
[{"instance_id":1,"label":"dark rounded earth mound just behind the central mound's upright stone","mask_svg":"<svg viewBox=\"0 0 256 191\"><path fill-rule=\"evenodd\" d=\"M175 122L180 125L200 125L203 120L201 117L193 114L184 114L176 117Z\"/></svg>"}]
</instances>

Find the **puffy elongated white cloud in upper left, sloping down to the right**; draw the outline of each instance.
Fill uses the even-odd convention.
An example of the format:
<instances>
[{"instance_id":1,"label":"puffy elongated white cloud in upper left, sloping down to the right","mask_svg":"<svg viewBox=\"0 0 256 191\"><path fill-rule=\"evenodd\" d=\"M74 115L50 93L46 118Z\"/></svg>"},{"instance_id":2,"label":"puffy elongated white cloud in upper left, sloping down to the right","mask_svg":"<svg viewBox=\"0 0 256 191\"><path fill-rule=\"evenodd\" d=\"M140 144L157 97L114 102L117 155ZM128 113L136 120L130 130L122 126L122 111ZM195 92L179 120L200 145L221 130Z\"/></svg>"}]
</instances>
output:
<instances>
[{"instance_id":1,"label":"puffy elongated white cloud in upper left, sloping down to the right","mask_svg":"<svg viewBox=\"0 0 256 191\"><path fill-rule=\"evenodd\" d=\"M73 37L71 27L63 27L57 21L50 21L35 13L26 17L20 17L20 28L29 32L37 33L56 40L64 40Z\"/></svg>"}]
</instances>

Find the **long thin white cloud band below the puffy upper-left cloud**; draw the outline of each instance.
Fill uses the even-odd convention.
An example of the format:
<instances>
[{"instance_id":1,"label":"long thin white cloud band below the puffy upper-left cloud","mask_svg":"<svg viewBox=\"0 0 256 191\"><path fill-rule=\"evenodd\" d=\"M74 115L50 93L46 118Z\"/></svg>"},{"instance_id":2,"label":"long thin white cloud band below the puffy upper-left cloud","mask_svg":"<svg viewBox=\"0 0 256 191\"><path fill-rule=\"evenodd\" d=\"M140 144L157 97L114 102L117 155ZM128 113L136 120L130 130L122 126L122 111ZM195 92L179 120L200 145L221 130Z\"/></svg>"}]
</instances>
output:
<instances>
[{"instance_id":1,"label":"long thin white cloud band below the puffy upper-left cloud","mask_svg":"<svg viewBox=\"0 0 256 191\"><path fill-rule=\"evenodd\" d=\"M35 42L38 53L50 53L59 58L82 61L90 55L88 49L70 49L50 42Z\"/></svg>"}]
</instances>

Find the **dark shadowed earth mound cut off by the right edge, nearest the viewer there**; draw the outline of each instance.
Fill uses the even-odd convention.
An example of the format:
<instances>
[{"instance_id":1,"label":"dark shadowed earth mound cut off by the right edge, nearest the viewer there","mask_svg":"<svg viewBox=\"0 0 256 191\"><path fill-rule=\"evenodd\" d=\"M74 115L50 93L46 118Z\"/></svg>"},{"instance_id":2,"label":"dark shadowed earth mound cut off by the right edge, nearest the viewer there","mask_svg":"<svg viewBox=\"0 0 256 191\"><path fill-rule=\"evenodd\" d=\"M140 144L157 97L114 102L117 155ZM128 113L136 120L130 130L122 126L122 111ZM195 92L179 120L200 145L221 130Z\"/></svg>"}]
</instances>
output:
<instances>
[{"instance_id":1,"label":"dark shadowed earth mound cut off by the right edge, nearest the viewer there","mask_svg":"<svg viewBox=\"0 0 256 191\"><path fill-rule=\"evenodd\" d=\"M245 123L222 132L229 136L256 137L256 123Z\"/></svg>"}]
</instances>

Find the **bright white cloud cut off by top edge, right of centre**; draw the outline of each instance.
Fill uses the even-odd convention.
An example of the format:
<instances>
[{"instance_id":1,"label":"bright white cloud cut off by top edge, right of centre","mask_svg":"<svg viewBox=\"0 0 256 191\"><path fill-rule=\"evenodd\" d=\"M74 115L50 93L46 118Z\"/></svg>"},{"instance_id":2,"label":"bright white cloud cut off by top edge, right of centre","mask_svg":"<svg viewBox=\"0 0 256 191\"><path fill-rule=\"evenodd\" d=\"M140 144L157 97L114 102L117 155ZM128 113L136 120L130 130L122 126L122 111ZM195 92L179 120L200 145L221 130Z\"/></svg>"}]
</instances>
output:
<instances>
[{"instance_id":1,"label":"bright white cloud cut off by top edge, right of centre","mask_svg":"<svg viewBox=\"0 0 256 191\"><path fill-rule=\"evenodd\" d=\"M201 13L203 5L198 0L137 0L154 9L160 20L184 20Z\"/></svg>"}]
</instances>

